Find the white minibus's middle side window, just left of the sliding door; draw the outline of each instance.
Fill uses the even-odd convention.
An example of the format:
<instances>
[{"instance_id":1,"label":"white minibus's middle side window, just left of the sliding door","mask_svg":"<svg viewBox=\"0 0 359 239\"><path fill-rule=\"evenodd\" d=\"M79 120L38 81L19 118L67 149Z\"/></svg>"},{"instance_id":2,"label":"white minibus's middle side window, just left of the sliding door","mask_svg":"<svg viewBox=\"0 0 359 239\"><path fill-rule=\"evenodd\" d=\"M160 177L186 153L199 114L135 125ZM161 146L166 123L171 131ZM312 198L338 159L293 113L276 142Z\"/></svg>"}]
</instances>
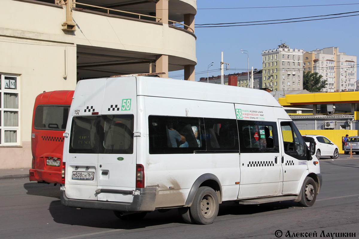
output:
<instances>
[{"instance_id":1,"label":"white minibus's middle side window, just left of the sliding door","mask_svg":"<svg viewBox=\"0 0 359 239\"><path fill-rule=\"evenodd\" d=\"M239 150L238 129L235 119L205 118L207 150Z\"/></svg>"}]
</instances>

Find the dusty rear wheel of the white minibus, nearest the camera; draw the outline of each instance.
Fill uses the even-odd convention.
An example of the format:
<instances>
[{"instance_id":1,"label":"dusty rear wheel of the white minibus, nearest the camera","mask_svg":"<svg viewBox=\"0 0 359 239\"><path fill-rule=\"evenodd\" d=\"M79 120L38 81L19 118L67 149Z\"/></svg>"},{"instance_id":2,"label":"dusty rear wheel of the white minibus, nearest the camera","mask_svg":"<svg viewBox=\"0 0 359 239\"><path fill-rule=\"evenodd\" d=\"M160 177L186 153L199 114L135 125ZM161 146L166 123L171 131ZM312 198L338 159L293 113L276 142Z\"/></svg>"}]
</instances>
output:
<instances>
[{"instance_id":1,"label":"dusty rear wheel of the white minibus, nearest the camera","mask_svg":"<svg viewBox=\"0 0 359 239\"><path fill-rule=\"evenodd\" d=\"M194 223L213 223L219 209L217 193L210 187L199 187L193 199L190 213Z\"/></svg>"}]
</instances>

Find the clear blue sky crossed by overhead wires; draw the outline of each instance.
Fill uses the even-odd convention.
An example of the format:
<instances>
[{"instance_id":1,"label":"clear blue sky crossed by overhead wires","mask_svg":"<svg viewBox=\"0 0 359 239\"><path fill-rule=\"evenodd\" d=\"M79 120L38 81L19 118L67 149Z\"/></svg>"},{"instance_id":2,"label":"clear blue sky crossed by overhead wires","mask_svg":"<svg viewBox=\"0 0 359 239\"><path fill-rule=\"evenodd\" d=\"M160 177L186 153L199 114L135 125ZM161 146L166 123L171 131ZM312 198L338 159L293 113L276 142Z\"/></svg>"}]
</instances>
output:
<instances>
[{"instance_id":1,"label":"clear blue sky crossed by overhead wires","mask_svg":"<svg viewBox=\"0 0 359 239\"><path fill-rule=\"evenodd\" d=\"M353 5L313 6L331 4ZM197 0L195 24L237 23L303 18L308 16L348 13L353 11L359 11L359 2L357 0ZM337 16L357 14L359 14L359 12ZM329 17L335 16L317 18ZM316 18L298 20L308 19ZM220 68L220 57L222 51L223 61L229 63L229 68L233 69L224 71L225 75L247 71L247 54L241 53L241 49L247 50L249 53L250 68L253 66L253 68L259 69L262 68L262 51L277 48L281 42L286 43L290 48L304 49L305 51L312 51L317 48L322 49L325 47L339 47L339 52L345 52L347 55L359 56L358 23L359 15L325 20L268 25L215 28L198 28L199 26L196 26L196 81L198 81L200 77L207 77L207 68L212 61L214 63L213 66L209 68L209 76L220 75L220 70L218 69ZM234 69L236 69L236 71ZM169 72L169 77L172 78L183 79L183 76L181 75L183 75L183 71Z\"/></svg>"}]
</instances>

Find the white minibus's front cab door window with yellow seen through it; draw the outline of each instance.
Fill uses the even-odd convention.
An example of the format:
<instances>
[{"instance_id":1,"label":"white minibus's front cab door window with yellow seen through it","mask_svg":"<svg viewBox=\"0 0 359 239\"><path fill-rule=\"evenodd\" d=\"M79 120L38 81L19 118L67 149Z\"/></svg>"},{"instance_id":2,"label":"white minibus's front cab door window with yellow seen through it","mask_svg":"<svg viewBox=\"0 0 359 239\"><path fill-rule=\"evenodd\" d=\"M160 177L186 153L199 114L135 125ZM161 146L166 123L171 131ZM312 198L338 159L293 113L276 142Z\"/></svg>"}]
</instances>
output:
<instances>
[{"instance_id":1,"label":"white minibus's front cab door window with yellow seen through it","mask_svg":"<svg viewBox=\"0 0 359 239\"><path fill-rule=\"evenodd\" d=\"M307 159L307 145L304 143L302 135L292 122L280 123L284 153L300 160Z\"/></svg>"}]
</instances>

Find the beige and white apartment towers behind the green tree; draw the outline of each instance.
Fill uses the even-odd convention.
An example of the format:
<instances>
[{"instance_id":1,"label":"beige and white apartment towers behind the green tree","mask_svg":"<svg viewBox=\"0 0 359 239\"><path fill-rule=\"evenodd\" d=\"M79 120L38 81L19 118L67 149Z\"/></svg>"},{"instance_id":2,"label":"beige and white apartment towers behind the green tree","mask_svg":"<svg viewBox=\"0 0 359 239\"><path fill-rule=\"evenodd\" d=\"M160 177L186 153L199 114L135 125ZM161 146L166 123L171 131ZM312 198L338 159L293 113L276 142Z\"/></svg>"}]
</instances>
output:
<instances>
[{"instance_id":1,"label":"beige and white apartment towers behind the green tree","mask_svg":"<svg viewBox=\"0 0 359 239\"><path fill-rule=\"evenodd\" d=\"M338 47L327 47L304 52L303 71L318 72L327 80L322 91L353 91L356 87L356 56L339 52Z\"/></svg>"}]
</instances>

